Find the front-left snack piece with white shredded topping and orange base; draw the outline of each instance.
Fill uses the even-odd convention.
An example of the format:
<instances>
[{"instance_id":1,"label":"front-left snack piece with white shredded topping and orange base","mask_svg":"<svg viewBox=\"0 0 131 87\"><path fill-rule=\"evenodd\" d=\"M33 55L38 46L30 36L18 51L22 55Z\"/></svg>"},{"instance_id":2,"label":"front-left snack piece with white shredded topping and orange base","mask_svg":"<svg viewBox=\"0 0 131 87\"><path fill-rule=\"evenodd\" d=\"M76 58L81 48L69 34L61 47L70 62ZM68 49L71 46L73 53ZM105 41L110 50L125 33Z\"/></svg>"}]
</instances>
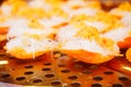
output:
<instances>
[{"instance_id":1,"label":"front-left snack piece with white shredded topping and orange base","mask_svg":"<svg viewBox=\"0 0 131 87\"><path fill-rule=\"evenodd\" d=\"M16 58L34 58L52 50L57 42L48 38L19 37L7 44L7 52ZM20 54L20 55L17 55ZM21 57L22 54L22 57Z\"/></svg>"}]
</instances>

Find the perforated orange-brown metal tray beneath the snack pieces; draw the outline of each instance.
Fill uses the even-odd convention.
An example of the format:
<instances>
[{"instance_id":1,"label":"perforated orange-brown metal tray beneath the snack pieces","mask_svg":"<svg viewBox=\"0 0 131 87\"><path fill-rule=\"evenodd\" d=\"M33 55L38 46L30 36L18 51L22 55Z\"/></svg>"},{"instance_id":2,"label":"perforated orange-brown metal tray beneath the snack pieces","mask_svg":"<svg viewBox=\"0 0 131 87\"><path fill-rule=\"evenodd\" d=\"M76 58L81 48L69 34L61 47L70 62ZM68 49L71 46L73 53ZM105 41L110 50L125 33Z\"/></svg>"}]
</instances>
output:
<instances>
[{"instance_id":1,"label":"perforated orange-brown metal tray beneath the snack pieces","mask_svg":"<svg viewBox=\"0 0 131 87\"><path fill-rule=\"evenodd\" d=\"M59 52L35 60L17 60L1 51L0 60L9 62L0 65L0 87L131 87L131 71L123 69L131 69L131 63L124 58L87 64Z\"/></svg>"}]
</instances>

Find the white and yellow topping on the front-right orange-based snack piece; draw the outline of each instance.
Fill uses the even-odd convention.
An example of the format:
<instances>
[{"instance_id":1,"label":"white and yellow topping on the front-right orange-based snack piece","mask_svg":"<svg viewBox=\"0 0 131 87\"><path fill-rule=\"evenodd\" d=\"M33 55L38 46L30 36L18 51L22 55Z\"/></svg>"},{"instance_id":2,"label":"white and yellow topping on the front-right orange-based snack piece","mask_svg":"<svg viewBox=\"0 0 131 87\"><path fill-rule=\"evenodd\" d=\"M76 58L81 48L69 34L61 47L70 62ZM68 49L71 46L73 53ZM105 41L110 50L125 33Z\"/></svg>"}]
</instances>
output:
<instances>
[{"instance_id":1,"label":"white and yellow topping on the front-right orange-based snack piece","mask_svg":"<svg viewBox=\"0 0 131 87\"><path fill-rule=\"evenodd\" d=\"M95 27L84 24L70 25L60 29L58 40L61 42L61 49L86 50L105 55L118 55L119 53L119 48L114 40L102 37Z\"/></svg>"}]
</instances>

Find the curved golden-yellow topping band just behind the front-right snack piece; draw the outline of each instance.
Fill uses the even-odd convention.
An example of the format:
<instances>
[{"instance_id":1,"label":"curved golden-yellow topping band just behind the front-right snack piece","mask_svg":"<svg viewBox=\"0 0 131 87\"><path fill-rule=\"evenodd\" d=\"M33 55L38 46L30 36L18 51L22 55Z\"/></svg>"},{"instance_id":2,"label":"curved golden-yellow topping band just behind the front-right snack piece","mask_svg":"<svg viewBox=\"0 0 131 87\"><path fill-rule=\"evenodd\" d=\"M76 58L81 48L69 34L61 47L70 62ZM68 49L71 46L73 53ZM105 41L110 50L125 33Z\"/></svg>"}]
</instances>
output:
<instances>
[{"instance_id":1,"label":"curved golden-yellow topping band just behind the front-right snack piece","mask_svg":"<svg viewBox=\"0 0 131 87\"><path fill-rule=\"evenodd\" d=\"M105 24L105 28L100 30L100 33L106 33L110 29L114 29L116 27L123 26L123 24L119 21L118 17L107 13L107 12L98 12L95 16L87 16L85 14L74 15L71 20L71 24L76 24L81 22L102 22Z\"/></svg>"}]
</instances>

